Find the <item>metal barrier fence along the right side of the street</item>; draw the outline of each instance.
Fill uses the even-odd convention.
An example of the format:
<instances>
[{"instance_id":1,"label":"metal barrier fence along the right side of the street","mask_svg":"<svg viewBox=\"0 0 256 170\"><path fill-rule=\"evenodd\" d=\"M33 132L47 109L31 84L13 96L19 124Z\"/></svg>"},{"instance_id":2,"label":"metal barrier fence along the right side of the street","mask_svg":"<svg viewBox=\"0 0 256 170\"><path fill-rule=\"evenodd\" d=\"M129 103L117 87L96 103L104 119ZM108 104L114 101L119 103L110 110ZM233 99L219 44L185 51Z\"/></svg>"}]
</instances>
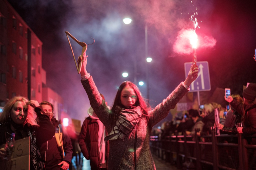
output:
<instances>
[{"instance_id":1,"label":"metal barrier fence along the right side of the street","mask_svg":"<svg viewBox=\"0 0 256 170\"><path fill-rule=\"evenodd\" d=\"M176 165L178 169L256 170L256 145L250 145L241 133L215 136L151 136L152 154ZM204 139L204 141L200 141Z\"/></svg>"}]
</instances>

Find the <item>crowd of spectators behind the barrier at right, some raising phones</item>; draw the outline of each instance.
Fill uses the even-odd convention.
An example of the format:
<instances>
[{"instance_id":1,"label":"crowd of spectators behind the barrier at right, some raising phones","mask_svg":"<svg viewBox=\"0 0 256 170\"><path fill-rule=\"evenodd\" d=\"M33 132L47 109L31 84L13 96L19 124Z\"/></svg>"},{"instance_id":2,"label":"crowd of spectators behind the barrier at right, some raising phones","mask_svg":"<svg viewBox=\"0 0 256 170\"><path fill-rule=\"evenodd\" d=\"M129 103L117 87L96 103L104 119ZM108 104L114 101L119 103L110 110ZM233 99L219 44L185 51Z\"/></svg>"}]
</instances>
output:
<instances>
[{"instance_id":1,"label":"crowd of spectators behind the barrier at right, some raising phones","mask_svg":"<svg viewBox=\"0 0 256 170\"><path fill-rule=\"evenodd\" d=\"M204 104L198 110L190 109L177 113L172 120L163 122L160 128L153 128L152 135L161 139L176 133L201 137L211 134L212 127L218 128L220 134L243 133L245 136L256 134L256 83L249 83L243 90L243 98L239 94L224 97L227 104L225 107L211 102ZM216 108L219 116L217 122ZM255 138L251 140L252 144L256 144Z\"/></svg>"}]
</instances>

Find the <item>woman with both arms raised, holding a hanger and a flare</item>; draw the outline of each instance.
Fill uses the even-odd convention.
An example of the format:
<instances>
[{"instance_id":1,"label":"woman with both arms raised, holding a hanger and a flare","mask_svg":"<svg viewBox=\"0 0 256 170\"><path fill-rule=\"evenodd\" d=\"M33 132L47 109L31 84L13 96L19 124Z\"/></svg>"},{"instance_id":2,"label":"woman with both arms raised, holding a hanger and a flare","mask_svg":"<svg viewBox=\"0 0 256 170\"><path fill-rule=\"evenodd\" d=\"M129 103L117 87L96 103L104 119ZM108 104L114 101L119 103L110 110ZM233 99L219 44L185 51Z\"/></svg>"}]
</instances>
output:
<instances>
[{"instance_id":1,"label":"woman with both arms raised, holding a hanger and a flare","mask_svg":"<svg viewBox=\"0 0 256 170\"><path fill-rule=\"evenodd\" d=\"M82 62L81 82L91 107L108 131L105 137L105 141L109 141L108 170L155 170L149 146L151 129L187 94L189 85L198 76L198 66L191 66L185 81L152 110L146 105L138 87L130 81L120 85L109 110L86 71L85 53L78 62Z\"/></svg>"}]
</instances>

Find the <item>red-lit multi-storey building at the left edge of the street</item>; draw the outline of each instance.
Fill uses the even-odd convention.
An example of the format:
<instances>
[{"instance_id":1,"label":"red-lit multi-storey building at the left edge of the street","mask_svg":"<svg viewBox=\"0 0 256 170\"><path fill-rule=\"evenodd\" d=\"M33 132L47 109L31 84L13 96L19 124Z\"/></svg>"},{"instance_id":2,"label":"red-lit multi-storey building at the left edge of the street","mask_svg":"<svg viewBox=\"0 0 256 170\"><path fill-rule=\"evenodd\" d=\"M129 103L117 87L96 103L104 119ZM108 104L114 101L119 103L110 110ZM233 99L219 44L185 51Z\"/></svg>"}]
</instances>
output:
<instances>
[{"instance_id":1,"label":"red-lit multi-storey building at the left edge of the street","mask_svg":"<svg viewBox=\"0 0 256 170\"><path fill-rule=\"evenodd\" d=\"M46 85L41 40L7 0L0 0L0 107L14 96L52 102L57 118L63 110L61 96Z\"/></svg>"}]
</instances>

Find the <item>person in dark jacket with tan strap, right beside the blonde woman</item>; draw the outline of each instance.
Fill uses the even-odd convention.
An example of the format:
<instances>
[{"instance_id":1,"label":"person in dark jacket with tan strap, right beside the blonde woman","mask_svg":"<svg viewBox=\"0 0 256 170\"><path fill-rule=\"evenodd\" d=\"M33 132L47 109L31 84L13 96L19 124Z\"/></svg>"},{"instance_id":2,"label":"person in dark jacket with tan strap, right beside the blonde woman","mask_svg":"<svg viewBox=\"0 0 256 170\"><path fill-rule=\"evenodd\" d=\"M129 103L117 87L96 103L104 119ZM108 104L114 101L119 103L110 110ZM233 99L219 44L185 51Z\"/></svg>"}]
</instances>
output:
<instances>
[{"instance_id":1,"label":"person in dark jacket with tan strap, right beside the blonde woman","mask_svg":"<svg viewBox=\"0 0 256 170\"><path fill-rule=\"evenodd\" d=\"M46 162L46 170L67 170L72 159L72 143L63 125L59 124L53 115L53 105L50 102L42 101L42 109L50 117L55 127L55 136L41 145L42 159Z\"/></svg>"}]
</instances>

